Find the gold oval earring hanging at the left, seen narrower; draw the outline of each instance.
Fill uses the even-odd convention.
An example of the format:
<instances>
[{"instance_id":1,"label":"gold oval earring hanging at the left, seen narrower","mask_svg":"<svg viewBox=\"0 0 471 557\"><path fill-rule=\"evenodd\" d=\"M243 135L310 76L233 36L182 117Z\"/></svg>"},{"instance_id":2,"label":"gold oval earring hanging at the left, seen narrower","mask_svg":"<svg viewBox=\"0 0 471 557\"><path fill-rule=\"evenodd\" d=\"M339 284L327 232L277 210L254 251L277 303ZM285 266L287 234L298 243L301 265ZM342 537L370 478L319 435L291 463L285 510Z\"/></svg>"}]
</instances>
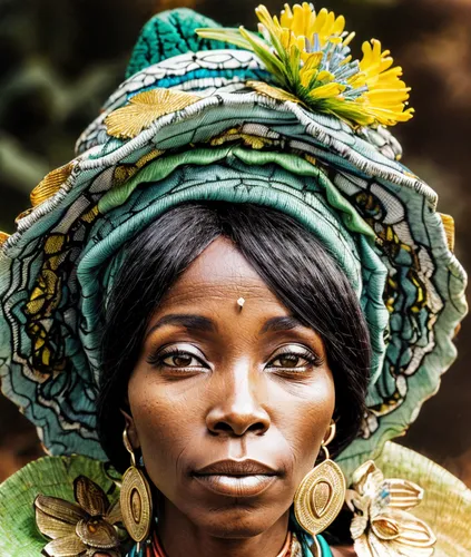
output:
<instances>
[{"instance_id":1,"label":"gold oval earring hanging at the left, seen narrower","mask_svg":"<svg viewBox=\"0 0 471 557\"><path fill-rule=\"evenodd\" d=\"M122 477L119 501L125 528L129 536L137 541L144 541L149 532L153 520L153 497L149 483L144 473L136 466L136 457L125 428L122 442L131 456L131 466Z\"/></svg>"}]
</instances>

